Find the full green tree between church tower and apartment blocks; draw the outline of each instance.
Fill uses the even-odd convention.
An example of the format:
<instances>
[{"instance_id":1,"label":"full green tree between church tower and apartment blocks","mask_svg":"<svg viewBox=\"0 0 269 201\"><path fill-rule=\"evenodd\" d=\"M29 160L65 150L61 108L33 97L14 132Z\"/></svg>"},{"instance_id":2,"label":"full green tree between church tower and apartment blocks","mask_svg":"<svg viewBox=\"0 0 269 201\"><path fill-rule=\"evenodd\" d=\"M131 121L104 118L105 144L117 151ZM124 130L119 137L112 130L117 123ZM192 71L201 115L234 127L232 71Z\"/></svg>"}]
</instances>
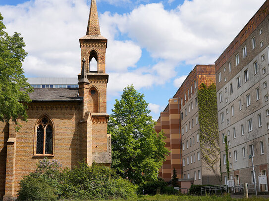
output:
<instances>
[{"instance_id":1,"label":"full green tree between church tower and apartment blocks","mask_svg":"<svg viewBox=\"0 0 269 201\"><path fill-rule=\"evenodd\" d=\"M164 147L163 133L157 134L154 129L155 121L149 115L144 94L128 85L121 99L115 101L108 122L112 139L111 167L133 183L157 180L168 150Z\"/></svg>"}]
</instances>

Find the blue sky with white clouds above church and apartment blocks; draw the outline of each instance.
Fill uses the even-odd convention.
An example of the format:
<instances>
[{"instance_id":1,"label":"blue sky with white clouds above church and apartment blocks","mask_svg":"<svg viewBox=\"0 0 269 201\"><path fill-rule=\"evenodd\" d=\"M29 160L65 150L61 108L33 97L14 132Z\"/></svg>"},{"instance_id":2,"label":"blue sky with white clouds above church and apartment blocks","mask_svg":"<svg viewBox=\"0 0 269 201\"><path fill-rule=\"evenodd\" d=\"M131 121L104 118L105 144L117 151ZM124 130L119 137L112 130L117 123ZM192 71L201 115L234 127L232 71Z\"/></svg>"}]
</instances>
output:
<instances>
[{"instance_id":1,"label":"blue sky with white clouds above church and apartment blocks","mask_svg":"<svg viewBox=\"0 0 269 201\"><path fill-rule=\"evenodd\" d=\"M7 32L21 33L30 77L77 77L91 0L0 0ZM108 113L128 84L158 119L196 64L217 57L265 0L97 0L108 39Z\"/></svg>"}]
</instances>

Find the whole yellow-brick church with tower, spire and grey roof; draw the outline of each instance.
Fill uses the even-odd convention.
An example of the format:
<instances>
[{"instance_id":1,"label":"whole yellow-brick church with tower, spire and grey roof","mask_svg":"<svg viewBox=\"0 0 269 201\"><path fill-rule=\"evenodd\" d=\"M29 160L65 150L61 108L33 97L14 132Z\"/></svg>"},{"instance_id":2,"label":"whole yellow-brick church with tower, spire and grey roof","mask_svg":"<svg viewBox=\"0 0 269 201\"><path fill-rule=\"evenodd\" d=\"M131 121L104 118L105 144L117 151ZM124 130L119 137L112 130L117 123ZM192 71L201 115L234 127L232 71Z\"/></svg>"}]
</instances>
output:
<instances>
[{"instance_id":1,"label":"whole yellow-brick church with tower, spire and grey roof","mask_svg":"<svg viewBox=\"0 0 269 201\"><path fill-rule=\"evenodd\" d=\"M28 122L0 122L0 199L13 200L19 181L47 157L63 167L78 161L111 163L107 134L106 48L101 36L96 0L92 0L86 36L79 39L81 74L78 88L34 88L29 94ZM91 61L97 69L91 69ZM78 69L79 72L79 69Z\"/></svg>"}]
</instances>

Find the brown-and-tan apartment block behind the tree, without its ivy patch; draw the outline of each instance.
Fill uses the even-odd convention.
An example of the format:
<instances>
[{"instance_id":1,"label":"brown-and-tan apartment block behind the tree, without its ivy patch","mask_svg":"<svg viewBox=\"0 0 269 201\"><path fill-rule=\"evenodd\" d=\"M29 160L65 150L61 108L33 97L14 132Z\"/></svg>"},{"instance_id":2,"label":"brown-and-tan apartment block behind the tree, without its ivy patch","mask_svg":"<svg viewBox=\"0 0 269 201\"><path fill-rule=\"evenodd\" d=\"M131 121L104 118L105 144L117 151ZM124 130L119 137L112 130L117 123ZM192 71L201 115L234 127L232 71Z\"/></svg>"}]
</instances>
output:
<instances>
[{"instance_id":1,"label":"brown-and-tan apartment block behind the tree, without its ivy patch","mask_svg":"<svg viewBox=\"0 0 269 201\"><path fill-rule=\"evenodd\" d=\"M169 104L161 112L155 126L157 133L161 130L164 132L165 146L170 151L159 176L169 182L175 168L182 188L185 181L189 185L186 186L188 188L190 184L220 182L218 165L215 167L215 175L201 156L197 92L202 83L207 86L215 83L214 65L195 66L173 98L169 99Z\"/></svg>"}]
</instances>

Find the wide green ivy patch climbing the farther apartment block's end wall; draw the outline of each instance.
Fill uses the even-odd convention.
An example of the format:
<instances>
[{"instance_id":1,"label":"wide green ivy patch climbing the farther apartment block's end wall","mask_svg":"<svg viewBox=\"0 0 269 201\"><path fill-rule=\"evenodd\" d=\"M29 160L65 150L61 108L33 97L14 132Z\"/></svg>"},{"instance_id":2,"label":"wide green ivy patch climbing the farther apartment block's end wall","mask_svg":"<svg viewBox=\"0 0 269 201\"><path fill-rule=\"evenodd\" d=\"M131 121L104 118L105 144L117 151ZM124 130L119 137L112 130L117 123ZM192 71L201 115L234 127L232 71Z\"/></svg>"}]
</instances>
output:
<instances>
[{"instance_id":1,"label":"wide green ivy patch climbing the farther apartment block's end wall","mask_svg":"<svg viewBox=\"0 0 269 201\"><path fill-rule=\"evenodd\" d=\"M198 90L201 157L218 180L219 138L217 122L216 86L202 83Z\"/></svg>"}]
</instances>

